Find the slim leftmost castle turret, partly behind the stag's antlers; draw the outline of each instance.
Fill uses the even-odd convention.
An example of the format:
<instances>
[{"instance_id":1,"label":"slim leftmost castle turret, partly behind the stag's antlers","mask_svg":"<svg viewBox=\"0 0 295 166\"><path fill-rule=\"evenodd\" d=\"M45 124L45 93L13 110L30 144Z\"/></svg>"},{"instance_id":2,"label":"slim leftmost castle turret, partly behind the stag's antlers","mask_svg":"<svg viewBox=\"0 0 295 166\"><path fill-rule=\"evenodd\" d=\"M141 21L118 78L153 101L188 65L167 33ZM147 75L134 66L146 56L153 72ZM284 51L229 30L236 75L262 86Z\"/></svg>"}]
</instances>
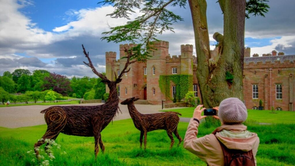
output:
<instances>
[{"instance_id":1,"label":"slim leftmost castle turret, partly behind the stag's antlers","mask_svg":"<svg viewBox=\"0 0 295 166\"><path fill-rule=\"evenodd\" d=\"M114 75L114 62L116 62L117 53L116 52L106 52L106 77L113 81L115 79ZM106 93L109 93L109 87L106 85Z\"/></svg>"}]
</instances>

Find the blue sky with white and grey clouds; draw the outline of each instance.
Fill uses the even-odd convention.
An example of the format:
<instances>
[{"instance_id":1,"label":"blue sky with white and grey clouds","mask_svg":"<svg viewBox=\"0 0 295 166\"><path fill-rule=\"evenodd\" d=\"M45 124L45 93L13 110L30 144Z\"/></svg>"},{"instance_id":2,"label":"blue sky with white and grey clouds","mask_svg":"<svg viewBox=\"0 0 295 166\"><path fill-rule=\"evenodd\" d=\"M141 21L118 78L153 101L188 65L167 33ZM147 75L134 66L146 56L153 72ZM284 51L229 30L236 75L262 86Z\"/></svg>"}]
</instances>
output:
<instances>
[{"instance_id":1,"label":"blue sky with white and grey clouds","mask_svg":"<svg viewBox=\"0 0 295 166\"><path fill-rule=\"evenodd\" d=\"M97 4L100 0L0 0L0 75L15 69L31 72L44 69L69 78L96 77L83 64L87 61L82 52L83 44L97 71L105 71L105 52L117 52L119 44L101 40L102 32L124 25L127 19L106 16L112 13L111 5ZM284 52L295 54L295 1L270 0L266 17L246 19L245 47L251 55ZM173 32L157 38L169 42L170 55L180 55L180 45L194 42L191 13L186 9L168 6L184 21L173 25ZM138 10L136 10L138 11ZM133 14L131 19L138 16ZM210 45L216 43L214 32L223 33L222 12L216 0L207 0L207 21ZM195 47L194 47L195 48ZM194 55L196 55L194 49Z\"/></svg>"}]
</instances>

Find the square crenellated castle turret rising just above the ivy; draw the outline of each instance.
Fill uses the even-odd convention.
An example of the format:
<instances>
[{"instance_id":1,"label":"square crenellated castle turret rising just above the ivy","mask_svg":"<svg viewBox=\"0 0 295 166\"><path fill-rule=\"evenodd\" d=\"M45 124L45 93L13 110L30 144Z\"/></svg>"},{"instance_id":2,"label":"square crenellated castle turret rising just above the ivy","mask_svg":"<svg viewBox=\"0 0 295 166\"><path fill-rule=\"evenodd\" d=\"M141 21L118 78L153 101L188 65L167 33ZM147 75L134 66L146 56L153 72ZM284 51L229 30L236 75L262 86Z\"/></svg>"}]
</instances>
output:
<instances>
[{"instance_id":1,"label":"square crenellated castle turret rising just above the ivy","mask_svg":"<svg viewBox=\"0 0 295 166\"><path fill-rule=\"evenodd\" d=\"M193 74L193 45L181 45L181 74Z\"/></svg>"}]
</instances>

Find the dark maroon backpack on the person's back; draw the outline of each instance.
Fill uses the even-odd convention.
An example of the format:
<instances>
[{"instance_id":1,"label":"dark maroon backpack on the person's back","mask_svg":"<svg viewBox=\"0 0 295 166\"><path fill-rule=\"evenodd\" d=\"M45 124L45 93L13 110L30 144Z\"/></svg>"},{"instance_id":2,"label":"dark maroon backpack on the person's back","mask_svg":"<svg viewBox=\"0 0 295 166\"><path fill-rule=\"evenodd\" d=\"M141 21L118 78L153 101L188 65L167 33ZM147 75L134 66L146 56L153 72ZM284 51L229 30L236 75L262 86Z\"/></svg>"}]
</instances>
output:
<instances>
[{"instance_id":1,"label":"dark maroon backpack on the person's back","mask_svg":"<svg viewBox=\"0 0 295 166\"><path fill-rule=\"evenodd\" d=\"M214 135L216 137L216 135ZM255 166L254 156L252 149L248 152L237 150L237 149L228 149L218 140L224 155L224 166Z\"/></svg>"}]
</instances>

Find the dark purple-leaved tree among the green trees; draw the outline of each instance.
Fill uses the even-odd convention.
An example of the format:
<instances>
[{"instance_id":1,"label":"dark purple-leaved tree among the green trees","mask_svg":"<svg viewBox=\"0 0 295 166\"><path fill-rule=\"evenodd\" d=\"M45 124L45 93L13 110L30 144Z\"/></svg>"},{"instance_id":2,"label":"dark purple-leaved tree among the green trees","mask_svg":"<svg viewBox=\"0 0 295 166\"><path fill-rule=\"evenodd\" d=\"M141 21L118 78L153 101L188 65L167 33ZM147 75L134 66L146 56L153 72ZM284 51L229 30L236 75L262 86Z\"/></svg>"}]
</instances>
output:
<instances>
[{"instance_id":1,"label":"dark purple-leaved tree among the green trees","mask_svg":"<svg viewBox=\"0 0 295 166\"><path fill-rule=\"evenodd\" d=\"M72 91L70 86L71 82L66 76L62 76L56 73L50 73L48 77L44 78L43 88L44 90L53 90L62 94L63 96L68 95Z\"/></svg>"}]
</instances>

